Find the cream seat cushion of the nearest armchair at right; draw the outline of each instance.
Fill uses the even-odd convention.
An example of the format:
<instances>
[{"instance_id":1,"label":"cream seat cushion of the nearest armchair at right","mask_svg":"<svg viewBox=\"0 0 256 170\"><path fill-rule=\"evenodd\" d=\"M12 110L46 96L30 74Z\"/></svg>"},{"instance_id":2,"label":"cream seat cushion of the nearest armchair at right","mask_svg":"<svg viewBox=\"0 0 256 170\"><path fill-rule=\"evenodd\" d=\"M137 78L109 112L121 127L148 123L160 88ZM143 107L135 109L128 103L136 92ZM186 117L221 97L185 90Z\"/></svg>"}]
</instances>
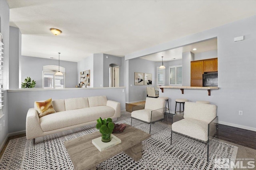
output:
<instances>
[{"instance_id":1,"label":"cream seat cushion of the nearest armchair at right","mask_svg":"<svg viewBox=\"0 0 256 170\"><path fill-rule=\"evenodd\" d=\"M190 118L182 119L172 123L172 130L202 141L208 140L208 123L205 121Z\"/></svg>"}]
</instances>

